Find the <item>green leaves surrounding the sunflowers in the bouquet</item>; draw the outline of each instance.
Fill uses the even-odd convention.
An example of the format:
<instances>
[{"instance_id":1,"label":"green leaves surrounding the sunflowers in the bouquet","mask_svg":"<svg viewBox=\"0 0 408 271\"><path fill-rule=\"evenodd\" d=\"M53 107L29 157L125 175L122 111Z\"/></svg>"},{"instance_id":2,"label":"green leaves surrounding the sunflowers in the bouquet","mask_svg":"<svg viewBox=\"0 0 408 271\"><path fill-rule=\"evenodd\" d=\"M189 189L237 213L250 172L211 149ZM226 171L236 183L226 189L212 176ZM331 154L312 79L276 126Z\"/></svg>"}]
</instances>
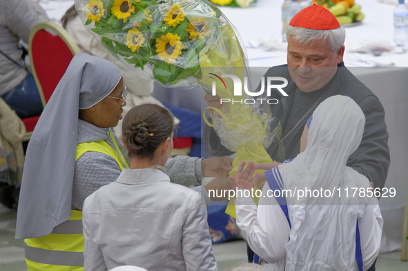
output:
<instances>
[{"instance_id":1,"label":"green leaves surrounding the sunflowers in the bouquet","mask_svg":"<svg viewBox=\"0 0 408 271\"><path fill-rule=\"evenodd\" d=\"M184 20L179 25L173 27L163 20L166 10L159 10L159 4L156 0L140 0L137 3L135 0L130 2L135 6L135 12L128 17L126 23L123 19L118 20L112 14L111 7L115 0L102 0L104 2L104 8L106 10L106 17L101 17L100 21L94 22L95 27L91 28L93 32L101 37L101 43L103 46L115 57L122 58L135 67L143 68L146 64L153 65L154 78L166 86L168 83L177 83L180 80L195 77L201 79L200 70L200 50L208 41L214 41L214 37L220 32L219 17L222 15L220 10L216 8L212 3L202 2L200 5L205 6L206 14L199 17L205 17L208 26L210 28L210 37L204 37L203 39L190 39L190 33L188 33L188 23L190 23L188 16L184 17ZM233 2L235 3L235 1ZM173 5L168 5L171 7ZM146 15L144 9L150 10L152 15L152 22L147 24ZM208 12L208 10L215 11L215 14ZM207 14L208 13L208 14ZM197 16L200 12L192 13L191 17ZM137 25L136 20L140 23ZM91 24L89 19L86 21L86 25ZM128 31L133 28L137 28L139 32L144 35L145 41L138 50L132 52L128 46L126 46ZM182 54L175 60L175 63L166 63L164 59L160 59L157 56L156 43L157 39L160 39L163 35L168 33L177 34L180 37L180 41L184 48L182 48ZM218 37L219 38L219 37Z\"/></svg>"}]
</instances>

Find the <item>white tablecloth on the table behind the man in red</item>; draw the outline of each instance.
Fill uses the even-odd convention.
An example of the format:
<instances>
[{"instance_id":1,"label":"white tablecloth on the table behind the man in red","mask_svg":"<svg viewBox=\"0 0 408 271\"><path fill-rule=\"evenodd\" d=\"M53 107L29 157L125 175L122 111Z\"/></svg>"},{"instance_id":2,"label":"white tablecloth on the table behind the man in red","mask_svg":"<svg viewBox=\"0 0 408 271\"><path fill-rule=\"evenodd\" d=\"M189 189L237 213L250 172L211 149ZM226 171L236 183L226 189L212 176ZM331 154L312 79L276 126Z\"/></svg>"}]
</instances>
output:
<instances>
[{"instance_id":1,"label":"white tablecloth on the table behind the man in red","mask_svg":"<svg viewBox=\"0 0 408 271\"><path fill-rule=\"evenodd\" d=\"M283 0L258 0L251 8L221 7L226 17L237 28L252 67L271 67L286 63L286 51L268 52L252 49L249 41L260 41L262 37L282 37L282 3ZM358 41L376 39L393 43L394 39L394 6L379 3L376 0L356 0L362 6L365 19L359 26L346 28L346 51L344 62L348 67L366 67L371 63L394 63L398 67L406 67L408 53L384 53L380 57L372 54L347 52L347 46ZM285 46L283 46L285 49ZM362 60L362 61L357 61Z\"/></svg>"}]
</instances>

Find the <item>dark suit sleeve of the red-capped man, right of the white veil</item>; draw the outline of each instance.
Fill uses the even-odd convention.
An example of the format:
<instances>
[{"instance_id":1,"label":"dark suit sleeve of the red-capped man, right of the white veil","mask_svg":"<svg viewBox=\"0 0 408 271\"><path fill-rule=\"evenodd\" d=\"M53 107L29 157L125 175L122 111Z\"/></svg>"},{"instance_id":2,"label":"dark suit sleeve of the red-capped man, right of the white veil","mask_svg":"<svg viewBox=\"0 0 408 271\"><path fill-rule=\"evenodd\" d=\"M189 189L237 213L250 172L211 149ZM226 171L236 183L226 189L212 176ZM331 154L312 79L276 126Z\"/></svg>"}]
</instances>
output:
<instances>
[{"instance_id":1,"label":"dark suit sleeve of the red-capped man, right of the white veil","mask_svg":"<svg viewBox=\"0 0 408 271\"><path fill-rule=\"evenodd\" d=\"M365 114L365 128L360 146L350 155L347 165L365 175L374 188L383 188L389 168L384 108L375 96L365 97L358 105Z\"/></svg>"}]
</instances>

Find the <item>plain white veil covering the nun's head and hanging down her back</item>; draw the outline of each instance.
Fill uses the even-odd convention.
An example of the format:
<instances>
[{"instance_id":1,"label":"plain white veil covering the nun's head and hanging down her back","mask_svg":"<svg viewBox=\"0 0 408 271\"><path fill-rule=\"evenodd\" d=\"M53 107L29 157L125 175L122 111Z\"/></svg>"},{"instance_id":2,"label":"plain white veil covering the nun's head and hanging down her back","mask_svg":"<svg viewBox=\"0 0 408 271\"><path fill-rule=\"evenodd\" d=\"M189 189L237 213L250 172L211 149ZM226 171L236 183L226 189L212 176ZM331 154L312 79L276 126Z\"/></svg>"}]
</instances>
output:
<instances>
[{"instance_id":1,"label":"plain white veil covering the nun's head and hanging down her back","mask_svg":"<svg viewBox=\"0 0 408 271\"><path fill-rule=\"evenodd\" d=\"M284 189L341 194L286 197L292 228L285 270L354 270L356 222L376 200L351 197L351 189L344 194L344 188L370 187L366 177L346 166L362 139L365 115L351 98L338 95L323 101L312 117L306 150L279 166Z\"/></svg>"}]
</instances>

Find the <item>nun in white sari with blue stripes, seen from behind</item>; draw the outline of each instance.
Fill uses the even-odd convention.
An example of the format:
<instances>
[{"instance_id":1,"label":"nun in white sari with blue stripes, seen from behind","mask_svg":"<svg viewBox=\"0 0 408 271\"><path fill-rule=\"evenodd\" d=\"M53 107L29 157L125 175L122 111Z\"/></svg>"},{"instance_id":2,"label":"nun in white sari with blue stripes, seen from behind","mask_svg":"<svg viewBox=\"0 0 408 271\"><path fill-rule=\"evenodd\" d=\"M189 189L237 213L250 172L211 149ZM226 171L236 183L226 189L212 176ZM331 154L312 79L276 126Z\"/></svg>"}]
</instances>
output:
<instances>
[{"instance_id":1,"label":"nun in white sari with blue stripes, seen from behind","mask_svg":"<svg viewBox=\"0 0 408 271\"><path fill-rule=\"evenodd\" d=\"M251 197L235 200L237 225L266 270L368 270L380 250L382 217L369 180L346 165L365 116L349 97L334 96L308 125L306 149L293 161L255 177L253 163L242 170L243 161L230 177L238 190L266 179L258 208Z\"/></svg>"}]
</instances>

